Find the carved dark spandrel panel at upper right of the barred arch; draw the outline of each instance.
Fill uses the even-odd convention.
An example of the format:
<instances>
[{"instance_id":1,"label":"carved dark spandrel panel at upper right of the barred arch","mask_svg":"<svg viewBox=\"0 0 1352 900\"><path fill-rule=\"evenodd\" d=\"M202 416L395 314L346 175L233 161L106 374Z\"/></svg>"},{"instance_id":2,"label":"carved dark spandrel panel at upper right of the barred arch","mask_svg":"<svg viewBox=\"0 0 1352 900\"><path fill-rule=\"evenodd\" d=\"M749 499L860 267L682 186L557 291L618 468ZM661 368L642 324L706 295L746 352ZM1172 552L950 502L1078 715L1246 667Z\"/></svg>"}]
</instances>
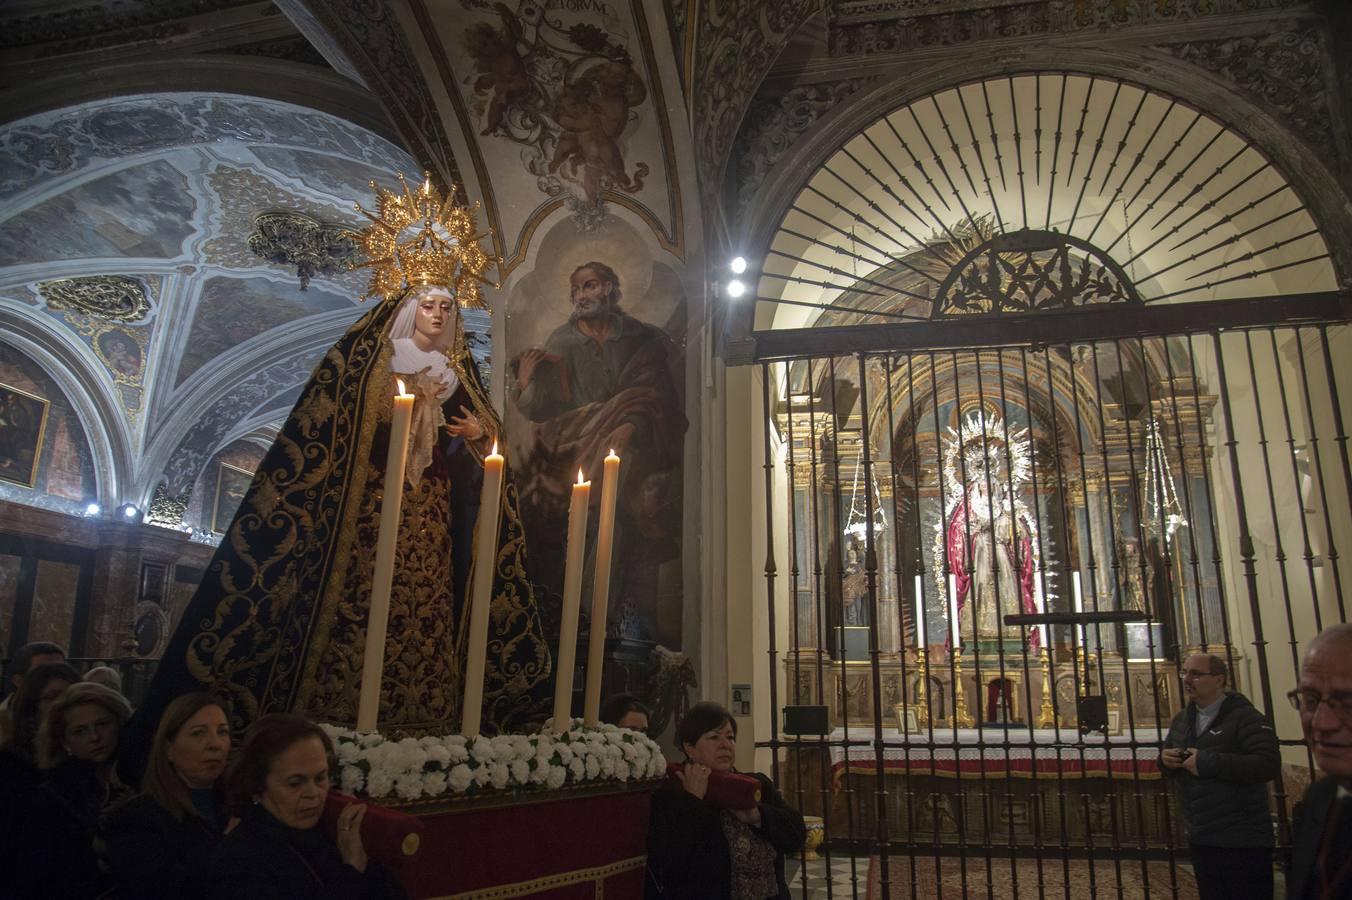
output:
<instances>
[{"instance_id":1,"label":"carved dark spandrel panel at upper right of the barred arch","mask_svg":"<svg viewBox=\"0 0 1352 900\"><path fill-rule=\"evenodd\" d=\"M1241 38L1163 45L1171 55L1233 82L1280 114L1291 132L1326 158L1337 157L1324 65L1314 26Z\"/></svg>"}]
</instances>

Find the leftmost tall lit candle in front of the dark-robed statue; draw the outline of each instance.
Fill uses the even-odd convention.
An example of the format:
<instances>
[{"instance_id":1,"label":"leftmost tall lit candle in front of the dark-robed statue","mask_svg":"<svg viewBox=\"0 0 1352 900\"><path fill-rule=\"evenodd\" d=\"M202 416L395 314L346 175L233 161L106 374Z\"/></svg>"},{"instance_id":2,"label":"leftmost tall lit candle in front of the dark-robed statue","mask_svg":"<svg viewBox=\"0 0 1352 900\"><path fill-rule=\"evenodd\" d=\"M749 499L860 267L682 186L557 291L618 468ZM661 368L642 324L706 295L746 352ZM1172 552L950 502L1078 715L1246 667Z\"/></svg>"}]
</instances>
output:
<instances>
[{"instance_id":1,"label":"leftmost tall lit candle in front of the dark-robed statue","mask_svg":"<svg viewBox=\"0 0 1352 900\"><path fill-rule=\"evenodd\" d=\"M385 486L380 501L380 530L376 532L376 570L370 578L370 612L366 619L366 646L361 658L361 692L357 696L357 731L375 731L380 714L380 681L385 669L385 631L389 627L389 588L395 580L395 542L399 538L399 511L404 500L404 464L408 459L408 432L414 423L414 395L397 380L393 419L389 423L389 450L385 454Z\"/></svg>"}]
</instances>

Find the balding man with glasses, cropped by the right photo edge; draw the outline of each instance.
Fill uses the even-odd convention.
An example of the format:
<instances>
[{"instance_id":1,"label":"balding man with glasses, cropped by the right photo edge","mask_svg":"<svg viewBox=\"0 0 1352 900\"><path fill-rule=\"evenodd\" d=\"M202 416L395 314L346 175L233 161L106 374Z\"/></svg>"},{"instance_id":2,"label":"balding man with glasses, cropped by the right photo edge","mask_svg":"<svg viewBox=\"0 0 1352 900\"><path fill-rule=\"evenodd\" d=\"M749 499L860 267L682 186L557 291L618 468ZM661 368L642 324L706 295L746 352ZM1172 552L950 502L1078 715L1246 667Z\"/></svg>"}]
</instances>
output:
<instances>
[{"instance_id":1,"label":"balding man with glasses, cropped by the right photo edge","mask_svg":"<svg viewBox=\"0 0 1352 900\"><path fill-rule=\"evenodd\" d=\"M1310 642L1299 686L1287 696L1326 777L1310 785L1293 818L1286 896L1352 897L1352 624Z\"/></svg>"}]
</instances>

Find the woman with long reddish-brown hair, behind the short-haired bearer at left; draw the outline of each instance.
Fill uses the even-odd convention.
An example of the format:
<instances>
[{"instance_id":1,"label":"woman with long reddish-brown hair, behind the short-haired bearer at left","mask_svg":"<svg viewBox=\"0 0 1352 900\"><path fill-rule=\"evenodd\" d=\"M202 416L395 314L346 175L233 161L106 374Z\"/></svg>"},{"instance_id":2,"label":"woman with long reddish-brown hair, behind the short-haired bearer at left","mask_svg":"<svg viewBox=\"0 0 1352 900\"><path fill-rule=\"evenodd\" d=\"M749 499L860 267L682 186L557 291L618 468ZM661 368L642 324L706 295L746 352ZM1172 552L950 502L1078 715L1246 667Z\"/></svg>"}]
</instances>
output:
<instances>
[{"instance_id":1,"label":"woman with long reddish-brown hair, behind the short-haired bearer at left","mask_svg":"<svg viewBox=\"0 0 1352 900\"><path fill-rule=\"evenodd\" d=\"M155 728L142 793L104 815L107 865L118 897L176 900L201 893L227 818L220 774L230 718L210 693L169 704Z\"/></svg>"}]
</instances>

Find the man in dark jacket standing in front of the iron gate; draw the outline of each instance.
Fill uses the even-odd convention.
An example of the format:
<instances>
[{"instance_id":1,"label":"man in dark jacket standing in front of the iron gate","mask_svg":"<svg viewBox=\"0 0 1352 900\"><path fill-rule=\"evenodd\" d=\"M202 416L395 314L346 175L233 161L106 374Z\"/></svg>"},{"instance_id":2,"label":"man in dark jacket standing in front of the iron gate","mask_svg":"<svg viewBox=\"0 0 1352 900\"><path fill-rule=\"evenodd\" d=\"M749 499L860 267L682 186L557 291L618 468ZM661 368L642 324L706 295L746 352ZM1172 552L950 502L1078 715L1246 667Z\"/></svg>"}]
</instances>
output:
<instances>
[{"instance_id":1,"label":"man in dark jacket standing in front of the iron gate","mask_svg":"<svg viewBox=\"0 0 1352 900\"><path fill-rule=\"evenodd\" d=\"M1160 766L1187 823L1198 893L1271 900L1265 785L1282 772L1276 732L1248 699L1225 689L1225 659L1195 653L1179 674L1188 704L1169 724Z\"/></svg>"}]
</instances>

